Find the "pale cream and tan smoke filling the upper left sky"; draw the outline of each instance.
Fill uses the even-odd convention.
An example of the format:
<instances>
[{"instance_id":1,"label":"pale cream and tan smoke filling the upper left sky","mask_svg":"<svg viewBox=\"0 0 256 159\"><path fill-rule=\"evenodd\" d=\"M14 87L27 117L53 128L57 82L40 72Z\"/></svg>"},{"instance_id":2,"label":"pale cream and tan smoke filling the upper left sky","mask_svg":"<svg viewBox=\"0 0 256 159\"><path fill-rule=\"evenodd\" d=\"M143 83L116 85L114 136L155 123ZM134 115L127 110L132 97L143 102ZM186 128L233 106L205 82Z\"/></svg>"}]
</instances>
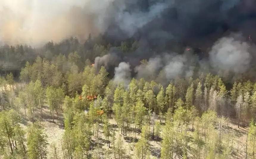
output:
<instances>
[{"instance_id":1,"label":"pale cream and tan smoke filling the upper left sky","mask_svg":"<svg viewBox=\"0 0 256 159\"><path fill-rule=\"evenodd\" d=\"M0 39L5 44L39 46L47 41L59 42L76 36L99 34L96 24L110 0L2 0L0 1Z\"/></svg>"}]
</instances>

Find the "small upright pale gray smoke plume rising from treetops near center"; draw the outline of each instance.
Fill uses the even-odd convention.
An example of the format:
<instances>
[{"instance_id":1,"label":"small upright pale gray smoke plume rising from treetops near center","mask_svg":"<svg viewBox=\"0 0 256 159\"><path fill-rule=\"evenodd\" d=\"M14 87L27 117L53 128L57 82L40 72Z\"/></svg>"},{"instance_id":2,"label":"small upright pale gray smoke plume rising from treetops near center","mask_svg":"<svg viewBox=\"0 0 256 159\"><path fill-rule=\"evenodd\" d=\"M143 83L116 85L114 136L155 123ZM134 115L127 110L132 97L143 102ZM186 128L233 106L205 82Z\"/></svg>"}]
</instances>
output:
<instances>
[{"instance_id":1,"label":"small upright pale gray smoke plume rising from treetops near center","mask_svg":"<svg viewBox=\"0 0 256 159\"><path fill-rule=\"evenodd\" d=\"M131 68L130 64L126 62L119 63L118 67L115 67L115 83L122 83L125 87L128 86L131 81Z\"/></svg>"}]
</instances>

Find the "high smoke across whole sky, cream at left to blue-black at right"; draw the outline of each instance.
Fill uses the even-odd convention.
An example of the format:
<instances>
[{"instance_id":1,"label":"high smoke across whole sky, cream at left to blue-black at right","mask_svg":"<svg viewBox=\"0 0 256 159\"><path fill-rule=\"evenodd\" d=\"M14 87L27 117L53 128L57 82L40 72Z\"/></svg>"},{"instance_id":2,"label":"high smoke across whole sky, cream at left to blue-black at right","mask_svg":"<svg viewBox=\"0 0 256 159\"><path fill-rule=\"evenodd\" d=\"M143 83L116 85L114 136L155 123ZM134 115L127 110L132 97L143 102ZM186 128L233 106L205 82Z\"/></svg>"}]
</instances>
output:
<instances>
[{"instance_id":1,"label":"high smoke across whole sky, cream at left to blue-black at right","mask_svg":"<svg viewBox=\"0 0 256 159\"><path fill-rule=\"evenodd\" d=\"M1 0L0 44L84 41L91 33L156 46L170 40L211 45L226 31L248 33L255 10L253 0Z\"/></svg>"}]
</instances>

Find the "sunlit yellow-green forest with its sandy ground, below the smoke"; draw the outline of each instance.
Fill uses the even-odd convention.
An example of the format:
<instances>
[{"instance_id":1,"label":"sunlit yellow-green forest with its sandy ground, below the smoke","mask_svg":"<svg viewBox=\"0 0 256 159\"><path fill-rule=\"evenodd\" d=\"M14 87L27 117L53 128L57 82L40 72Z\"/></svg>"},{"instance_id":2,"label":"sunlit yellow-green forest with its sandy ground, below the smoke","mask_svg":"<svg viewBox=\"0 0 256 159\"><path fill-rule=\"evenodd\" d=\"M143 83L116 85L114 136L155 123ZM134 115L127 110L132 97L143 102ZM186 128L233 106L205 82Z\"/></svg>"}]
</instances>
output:
<instances>
[{"instance_id":1,"label":"sunlit yellow-green forest with its sandy ground, below the smoke","mask_svg":"<svg viewBox=\"0 0 256 159\"><path fill-rule=\"evenodd\" d=\"M81 59L38 56L1 76L0 158L256 157L256 83L201 73L126 84Z\"/></svg>"}]
</instances>

